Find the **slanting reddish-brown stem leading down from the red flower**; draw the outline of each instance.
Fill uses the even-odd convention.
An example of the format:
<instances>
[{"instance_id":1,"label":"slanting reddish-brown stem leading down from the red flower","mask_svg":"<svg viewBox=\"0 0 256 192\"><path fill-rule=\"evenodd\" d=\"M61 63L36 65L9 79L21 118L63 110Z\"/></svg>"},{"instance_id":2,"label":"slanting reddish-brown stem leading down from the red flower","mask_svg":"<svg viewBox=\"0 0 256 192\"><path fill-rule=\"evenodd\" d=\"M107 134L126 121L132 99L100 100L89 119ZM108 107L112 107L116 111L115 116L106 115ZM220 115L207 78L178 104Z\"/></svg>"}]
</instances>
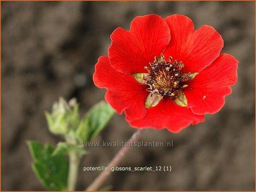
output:
<instances>
[{"instance_id":1,"label":"slanting reddish-brown stem leading down from the red flower","mask_svg":"<svg viewBox=\"0 0 256 192\"><path fill-rule=\"evenodd\" d=\"M140 139L140 136L143 131L144 131L144 129L137 130L135 133L133 133L132 137L130 137L128 142L130 142L130 143L137 142ZM112 167L118 165L118 163L123 159L125 154L129 151L130 147L131 146L129 145L127 147L122 147L119 150L119 152L116 154L116 156L114 156L114 158L109 162L109 164L107 166L108 170L111 170ZM87 191L96 191L97 189L99 189L99 187L102 185L102 183L104 183L104 181L110 175L110 173L111 172L109 172L109 171L101 172L101 174L97 178L95 178L95 180L91 183L91 185L89 185L89 187L87 187L86 190Z\"/></svg>"}]
</instances>

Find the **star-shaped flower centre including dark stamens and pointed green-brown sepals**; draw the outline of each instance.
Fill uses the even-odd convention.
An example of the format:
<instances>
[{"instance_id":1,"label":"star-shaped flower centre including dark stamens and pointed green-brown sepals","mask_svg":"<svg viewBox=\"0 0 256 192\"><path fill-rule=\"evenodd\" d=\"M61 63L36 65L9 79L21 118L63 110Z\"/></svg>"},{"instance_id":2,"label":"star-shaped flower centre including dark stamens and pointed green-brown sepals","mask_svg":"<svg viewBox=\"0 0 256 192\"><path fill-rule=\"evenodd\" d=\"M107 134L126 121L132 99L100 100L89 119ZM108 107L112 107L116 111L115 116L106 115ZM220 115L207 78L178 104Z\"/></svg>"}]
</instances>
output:
<instances>
[{"instance_id":1,"label":"star-shaped flower centre including dark stamens and pointed green-brown sepals","mask_svg":"<svg viewBox=\"0 0 256 192\"><path fill-rule=\"evenodd\" d=\"M147 91L150 93L145 100L145 107L155 107L164 96L169 96L177 105L186 107L188 102L182 89L188 87L186 81L192 80L198 72L182 73L183 62L172 62L172 57L166 61L163 54L159 58L155 57L155 61L149 64L150 66L144 67L147 73L133 74L136 81L149 86Z\"/></svg>"}]
</instances>

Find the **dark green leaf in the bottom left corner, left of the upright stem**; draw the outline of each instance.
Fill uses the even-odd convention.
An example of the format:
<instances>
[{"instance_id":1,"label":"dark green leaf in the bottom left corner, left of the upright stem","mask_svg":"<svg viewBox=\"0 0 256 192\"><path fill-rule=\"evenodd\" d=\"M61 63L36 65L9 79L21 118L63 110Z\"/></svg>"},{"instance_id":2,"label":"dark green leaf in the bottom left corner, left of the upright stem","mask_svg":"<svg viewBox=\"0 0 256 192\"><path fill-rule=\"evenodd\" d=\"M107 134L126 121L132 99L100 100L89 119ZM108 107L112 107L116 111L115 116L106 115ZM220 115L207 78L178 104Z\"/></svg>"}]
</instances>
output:
<instances>
[{"instance_id":1,"label":"dark green leaf in the bottom left corner, left of the upright stem","mask_svg":"<svg viewBox=\"0 0 256 192\"><path fill-rule=\"evenodd\" d=\"M54 147L50 144L28 141L32 169L39 181L50 191L65 191L68 179L68 160L63 154L53 156Z\"/></svg>"}]
</instances>

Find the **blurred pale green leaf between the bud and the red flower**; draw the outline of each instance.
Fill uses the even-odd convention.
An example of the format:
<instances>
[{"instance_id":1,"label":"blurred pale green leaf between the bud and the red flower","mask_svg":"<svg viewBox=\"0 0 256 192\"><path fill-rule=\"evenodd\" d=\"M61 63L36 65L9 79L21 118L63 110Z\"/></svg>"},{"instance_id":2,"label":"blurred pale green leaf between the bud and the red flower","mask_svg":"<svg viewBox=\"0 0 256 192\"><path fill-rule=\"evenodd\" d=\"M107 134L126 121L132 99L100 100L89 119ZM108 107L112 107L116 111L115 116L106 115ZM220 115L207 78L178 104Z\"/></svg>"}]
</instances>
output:
<instances>
[{"instance_id":1,"label":"blurred pale green leaf between the bud and the red flower","mask_svg":"<svg viewBox=\"0 0 256 192\"><path fill-rule=\"evenodd\" d=\"M83 142L89 142L106 126L115 111L104 101L95 104L81 120L77 128Z\"/></svg>"}]
</instances>

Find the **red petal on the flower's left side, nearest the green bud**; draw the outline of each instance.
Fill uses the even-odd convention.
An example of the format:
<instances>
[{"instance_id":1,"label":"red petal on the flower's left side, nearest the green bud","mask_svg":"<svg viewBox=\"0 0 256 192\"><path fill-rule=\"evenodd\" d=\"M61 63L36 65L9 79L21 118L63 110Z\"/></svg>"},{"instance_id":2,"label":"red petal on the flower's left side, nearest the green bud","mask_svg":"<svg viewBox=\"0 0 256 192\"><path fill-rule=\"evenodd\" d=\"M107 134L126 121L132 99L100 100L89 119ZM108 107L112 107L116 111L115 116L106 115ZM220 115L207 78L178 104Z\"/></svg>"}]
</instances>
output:
<instances>
[{"instance_id":1,"label":"red petal on the flower's left side, nearest the green bud","mask_svg":"<svg viewBox=\"0 0 256 192\"><path fill-rule=\"evenodd\" d=\"M141 119L147 110L145 100L147 85L138 83L132 75L115 71L106 56L99 57L93 74L94 84L106 88L105 99L119 114L125 111L129 118Z\"/></svg>"}]
</instances>

